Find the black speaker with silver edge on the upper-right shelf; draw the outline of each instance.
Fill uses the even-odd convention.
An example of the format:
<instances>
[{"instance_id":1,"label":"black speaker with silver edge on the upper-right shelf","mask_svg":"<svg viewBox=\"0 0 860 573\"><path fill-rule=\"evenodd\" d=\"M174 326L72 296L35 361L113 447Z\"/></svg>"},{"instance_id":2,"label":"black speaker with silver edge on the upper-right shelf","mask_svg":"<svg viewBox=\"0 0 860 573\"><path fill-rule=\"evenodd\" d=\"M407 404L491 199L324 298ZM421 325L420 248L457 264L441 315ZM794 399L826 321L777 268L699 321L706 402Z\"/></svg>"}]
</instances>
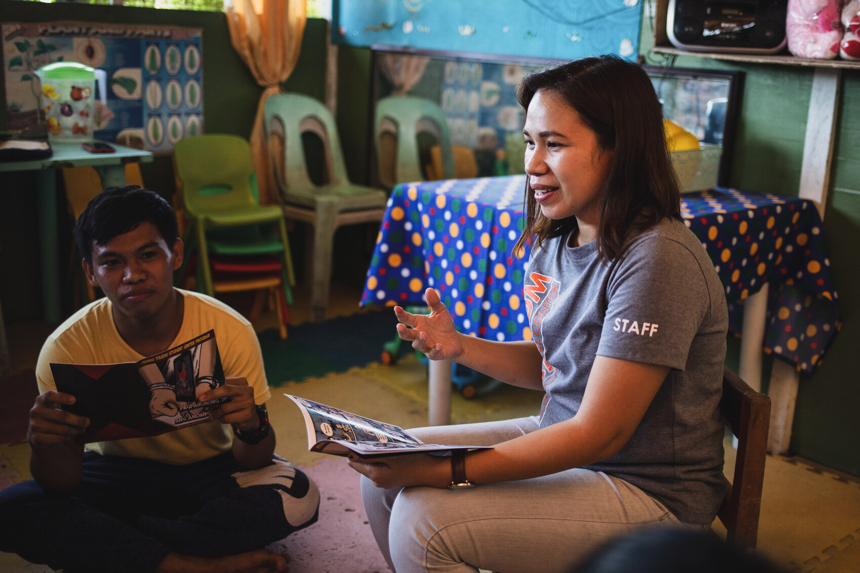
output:
<instances>
[{"instance_id":1,"label":"black speaker with silver edge on the upper-right shelf","mask_svg":"<svg viewBox=\"0 0 860 573\"><path fill-rule=\"evenodd\" d=\"M788 0L669 0L669 41L692 52L777 53Z\"/></svg>"}]
</instances>

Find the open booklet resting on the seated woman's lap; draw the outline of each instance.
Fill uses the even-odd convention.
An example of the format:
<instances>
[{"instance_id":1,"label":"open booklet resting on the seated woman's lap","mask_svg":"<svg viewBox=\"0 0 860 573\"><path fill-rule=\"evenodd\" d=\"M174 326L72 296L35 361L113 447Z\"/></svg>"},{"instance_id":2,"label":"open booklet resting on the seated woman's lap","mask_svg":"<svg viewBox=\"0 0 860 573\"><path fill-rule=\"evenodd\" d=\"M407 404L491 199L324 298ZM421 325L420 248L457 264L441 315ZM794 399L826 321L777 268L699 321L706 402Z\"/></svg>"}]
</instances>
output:
<instances>
[{"instance_id":1,"label":"open booklet resting on the seated woman's lap","mask_svg":"<svg viewBox=\"0 0 860 573\"><path fill-rule=\"evenodd\" d=\"M377 422L330 405L284 394L298 405L308 430L308 449L323 454L359 455L451 454L453 449L488 449L492 446L444 446L423 443L399 426Z\"/></svg>"}]
</instances>

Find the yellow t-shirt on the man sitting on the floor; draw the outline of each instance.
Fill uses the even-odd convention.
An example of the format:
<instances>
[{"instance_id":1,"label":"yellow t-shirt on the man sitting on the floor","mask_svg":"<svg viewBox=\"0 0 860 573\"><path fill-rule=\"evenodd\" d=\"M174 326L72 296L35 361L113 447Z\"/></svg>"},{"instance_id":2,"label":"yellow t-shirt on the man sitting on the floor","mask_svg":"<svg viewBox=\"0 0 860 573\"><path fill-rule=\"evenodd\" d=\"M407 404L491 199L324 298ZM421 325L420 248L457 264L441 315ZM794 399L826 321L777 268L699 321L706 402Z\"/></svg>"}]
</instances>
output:
<instances>
[{"instance_id":1,"label":"yellow t-shirt on the man sitting on the floor","mask_svg":"<svg viewBox=\"0 0 860 573\"><path fill-rule=\"evenodd\" d=\"M214 329L224 375L244 376L254 388L254 401L271 397L263 369L260 341L248 320L211 296L177 289L185 299L182 326L170 347ZM144 356L132 350L114 325L112 307L102 298L81 308L47 338L36 365L39 392L56 390L51 363L113 364L137 362ZM103 455L163 461L182 465L206 460L230 449L230 424L206 422L161 436L94 442L86 449Z\"/></svg>"}]
</instances>

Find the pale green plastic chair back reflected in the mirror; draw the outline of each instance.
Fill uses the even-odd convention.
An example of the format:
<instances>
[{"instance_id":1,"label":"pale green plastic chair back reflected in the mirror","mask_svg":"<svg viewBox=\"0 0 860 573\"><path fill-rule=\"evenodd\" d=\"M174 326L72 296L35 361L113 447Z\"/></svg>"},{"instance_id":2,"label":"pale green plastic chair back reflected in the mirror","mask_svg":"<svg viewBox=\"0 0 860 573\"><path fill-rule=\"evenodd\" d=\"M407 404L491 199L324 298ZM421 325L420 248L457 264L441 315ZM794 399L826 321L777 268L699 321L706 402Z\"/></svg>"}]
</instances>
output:
<instances>
[{"instance_id":1,"label":"pale green plastic chair back reflected in the mirror","mask_svg":"<svg viewBox=\"0 0 860 573\"><path fill-rule=\"evenodd\" d=\"M421 171L418 149L418 134L433 133L442 149L442 179L454 179L454 156L451 152L451 137L445 112L433 101L411 95L393 95L377 101L376 120L373 130L377 150L379 182L387 189L398 183L421 181L426 177ZM396 164L393 173L385 168L390 157L383 149L386 134L396 138Z\"/></svg>"}]
</instances>

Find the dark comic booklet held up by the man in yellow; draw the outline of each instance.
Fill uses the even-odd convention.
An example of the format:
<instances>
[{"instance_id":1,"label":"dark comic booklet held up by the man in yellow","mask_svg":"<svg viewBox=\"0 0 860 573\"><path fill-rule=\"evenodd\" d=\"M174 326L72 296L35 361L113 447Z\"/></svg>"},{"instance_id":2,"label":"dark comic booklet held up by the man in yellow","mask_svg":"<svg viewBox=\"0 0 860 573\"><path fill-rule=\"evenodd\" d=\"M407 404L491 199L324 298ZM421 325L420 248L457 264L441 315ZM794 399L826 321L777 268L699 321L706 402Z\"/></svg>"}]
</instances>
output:
<instances>
[{"instance_id":1,"label":"dark comic booklet held up by the man in yellow","mask_svg":"<svg viewBox=\"0 0 860 573\"><path fill-rule=\"evenodd\" d=\"M197 396L224 384L215 332L137 363L51 363L57 389L75 396L64 410L89 418L78 442L157 436L206 422L226 399Z\"/></svg>"}]
</instances>

